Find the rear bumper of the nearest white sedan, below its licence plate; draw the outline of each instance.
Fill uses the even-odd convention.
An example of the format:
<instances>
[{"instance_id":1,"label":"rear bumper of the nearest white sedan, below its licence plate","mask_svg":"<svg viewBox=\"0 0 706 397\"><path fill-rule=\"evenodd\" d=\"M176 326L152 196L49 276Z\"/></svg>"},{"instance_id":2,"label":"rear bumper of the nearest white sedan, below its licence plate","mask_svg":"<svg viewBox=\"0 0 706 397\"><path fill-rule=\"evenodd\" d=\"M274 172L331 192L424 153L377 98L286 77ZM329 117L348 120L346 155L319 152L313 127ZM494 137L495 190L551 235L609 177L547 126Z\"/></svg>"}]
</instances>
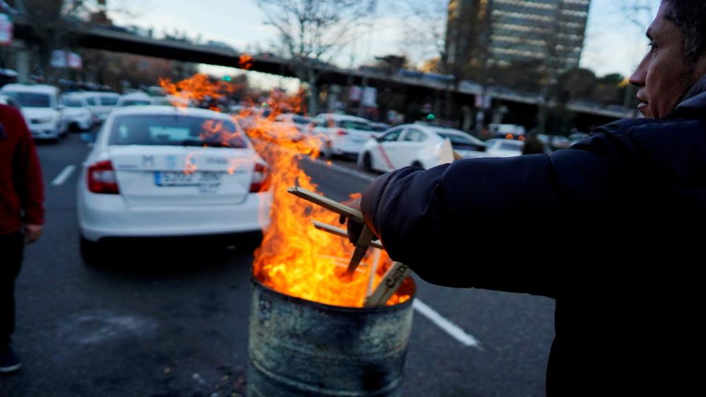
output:
<instances>
[{"instance_id":1,"label":"rear bumper of the nearest white sedan, below its licence plate","mask_svg":"<svg viewBox=\"0 0 706 397\"><path fill-rule=\"evenodd\" d=\"M270 223L270 192L249 194L234 205L130 206L120 195L80 191L78 225L83 238L177 237L263 230Z\"/></svg>"}]
</instances>

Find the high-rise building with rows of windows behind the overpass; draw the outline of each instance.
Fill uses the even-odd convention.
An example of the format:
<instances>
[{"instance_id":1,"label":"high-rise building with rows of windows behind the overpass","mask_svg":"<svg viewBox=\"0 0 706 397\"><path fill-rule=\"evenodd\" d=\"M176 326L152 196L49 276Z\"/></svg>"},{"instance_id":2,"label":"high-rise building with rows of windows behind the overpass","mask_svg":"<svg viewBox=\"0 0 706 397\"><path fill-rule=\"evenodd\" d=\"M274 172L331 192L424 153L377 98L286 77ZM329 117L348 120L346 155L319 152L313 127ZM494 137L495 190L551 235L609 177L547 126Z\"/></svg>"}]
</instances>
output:
<instances>
[{"instance_id":1,"label":"high-rise building with rows of windows behind the overpass","mask_svg":"<svg viewBox=\"0 0 706 397\"><path fill-rule=\"evenodd\" d=\"M450 0L448 64L578 66L590 0Z\"/></svg>"}]
</instances>

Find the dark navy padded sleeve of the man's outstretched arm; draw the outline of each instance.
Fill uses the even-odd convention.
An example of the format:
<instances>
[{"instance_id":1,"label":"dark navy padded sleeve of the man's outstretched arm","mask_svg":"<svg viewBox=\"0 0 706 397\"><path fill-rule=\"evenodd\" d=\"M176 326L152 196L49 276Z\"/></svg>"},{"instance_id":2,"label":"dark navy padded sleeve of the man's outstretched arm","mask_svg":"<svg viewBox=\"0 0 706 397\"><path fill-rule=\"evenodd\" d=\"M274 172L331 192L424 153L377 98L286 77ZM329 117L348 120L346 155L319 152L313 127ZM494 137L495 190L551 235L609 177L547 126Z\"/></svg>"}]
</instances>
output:
<instances>
[{"instance_id":1,"label":"dark navy padded sleeve of the man's outstretched arm","mask_svg":"<svg viewBox=\"0 0 706 397\"><path fill-rule=\"evenodd\" d=\"M601 225L638 162L628 136L596 134L551 155L384 174L361 209L390 257L430 283L553 296L542 248Z\"/></svg>"}]
</instances>

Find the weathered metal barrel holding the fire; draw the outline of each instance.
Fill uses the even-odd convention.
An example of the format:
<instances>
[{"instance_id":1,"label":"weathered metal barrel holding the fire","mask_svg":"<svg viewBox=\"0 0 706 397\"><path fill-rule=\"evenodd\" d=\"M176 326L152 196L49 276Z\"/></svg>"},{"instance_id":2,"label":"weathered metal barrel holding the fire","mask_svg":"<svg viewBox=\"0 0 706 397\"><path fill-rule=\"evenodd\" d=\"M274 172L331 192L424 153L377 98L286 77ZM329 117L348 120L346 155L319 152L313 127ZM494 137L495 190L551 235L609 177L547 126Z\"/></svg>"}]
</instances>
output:
<instances>
[{"instance_id":1,"label":"weathered metal barrel holding the fire","mask_svg":"<svg viewBox=\"0 0 706 397\"><path fill-rule=\"evenodd\" d=\"M292 297L253 278L248 395L400 396L416 285L383 307L338 307Z\"/></svg>"}]
</instances>

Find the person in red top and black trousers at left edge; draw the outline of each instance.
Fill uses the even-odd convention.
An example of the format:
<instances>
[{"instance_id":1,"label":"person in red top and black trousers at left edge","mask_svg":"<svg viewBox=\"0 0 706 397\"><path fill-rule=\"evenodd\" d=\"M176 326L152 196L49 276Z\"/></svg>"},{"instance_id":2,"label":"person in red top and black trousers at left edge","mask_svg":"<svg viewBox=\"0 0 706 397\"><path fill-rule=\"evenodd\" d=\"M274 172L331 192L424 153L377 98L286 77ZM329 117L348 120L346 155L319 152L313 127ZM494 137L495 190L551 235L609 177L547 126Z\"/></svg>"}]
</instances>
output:
<instances>
[{"instance_id":1,"label":"person in red top and black trousers at left edge","mask_svg":"<svg viewBox=\"0 0 706 397\"><path fill-rule=\"evenodd\" d=\"M15 279L25 242L44 224L44 184L34 141L17 109L0 105L0 372L20 369L10 346L15 331Z\"/></svg>"}]
</instances>

